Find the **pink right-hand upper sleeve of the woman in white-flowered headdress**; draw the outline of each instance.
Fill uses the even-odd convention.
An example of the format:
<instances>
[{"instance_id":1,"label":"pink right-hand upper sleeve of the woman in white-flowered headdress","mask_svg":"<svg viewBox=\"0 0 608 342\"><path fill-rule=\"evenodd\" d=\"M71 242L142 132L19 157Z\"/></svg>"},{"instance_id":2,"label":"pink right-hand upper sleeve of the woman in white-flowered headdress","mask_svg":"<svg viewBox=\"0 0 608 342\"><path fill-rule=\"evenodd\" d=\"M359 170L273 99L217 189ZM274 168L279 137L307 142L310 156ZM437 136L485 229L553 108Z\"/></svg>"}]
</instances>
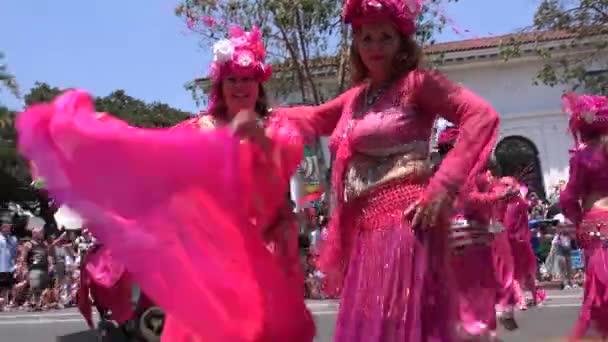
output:
<instances>
[{"instance_id":1,"label":"pink right-hand upper sleeve of the woman in white-flowered headdress","mask_svg":"<svg viewBox=\"0 0 608 342\"><path fill-rule=\"evenodd\" d=\"M304 155L302 136L282 114L274 115L268 126L273 141L273 158L283 180L289 181Z\"/></svg>"}]
</instances>

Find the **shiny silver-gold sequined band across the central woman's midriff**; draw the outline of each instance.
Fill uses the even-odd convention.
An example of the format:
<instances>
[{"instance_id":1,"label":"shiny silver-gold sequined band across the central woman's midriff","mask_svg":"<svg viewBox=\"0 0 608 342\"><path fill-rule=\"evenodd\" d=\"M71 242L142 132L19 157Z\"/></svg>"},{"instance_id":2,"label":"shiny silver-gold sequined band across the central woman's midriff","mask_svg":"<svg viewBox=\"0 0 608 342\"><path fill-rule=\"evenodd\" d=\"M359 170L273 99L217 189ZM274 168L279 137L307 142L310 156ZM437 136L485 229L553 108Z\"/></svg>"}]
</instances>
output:
<instances>
[{"instance_id":1,"label":"shiny silver-gold sequined band across the central woman's midriff","mask_svg":"<svg viewBox=\"0 0 608 342\"><path fill-rule=\"evenodd\" d=\"M355 154L344 177L344 201L352 201L398 179L422 183L431 174L430 160L422 151L388 157Z\"/></svg>"}]
</instances>

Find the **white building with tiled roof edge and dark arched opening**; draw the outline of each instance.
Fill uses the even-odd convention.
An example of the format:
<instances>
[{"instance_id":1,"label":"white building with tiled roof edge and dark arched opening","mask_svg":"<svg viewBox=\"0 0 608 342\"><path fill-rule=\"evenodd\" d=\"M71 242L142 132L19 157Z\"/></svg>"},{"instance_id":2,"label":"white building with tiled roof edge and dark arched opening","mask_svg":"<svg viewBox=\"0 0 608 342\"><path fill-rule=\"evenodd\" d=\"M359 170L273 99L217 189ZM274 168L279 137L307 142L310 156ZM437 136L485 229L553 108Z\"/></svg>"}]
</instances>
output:
<instances>
[{"instance_id":1,"label":"white building with tiled roof edge and dark arched opening","mask_svg":"<svg viewBox=\"0 0 608 342\"><path fill-rule=\"evenodd\" d=\"M522 43L520 56L505 61L500 46L513 37L440 43L426 52L443 54L442 71L488 100L500 113L500 137L495 153L503 172L518 176L533 191L543 193L568 178L568 150L573 141L567 130L568 118L561 109L561 95L568 87L533 84L543 65L535 48L542 44L556 56L582 53L585 45L572 49L569 44L573 36L563 33L545 33L542 39L533 34L520 35L517 36ZM335 78L335 73L330 73L320 80L328 93L335 87L332 86ZM287 100L297 102L297 93ZM329 161L328 152L325 154ZM513 161L518 165L514 166Z\"/></svg>"}]
</instances>

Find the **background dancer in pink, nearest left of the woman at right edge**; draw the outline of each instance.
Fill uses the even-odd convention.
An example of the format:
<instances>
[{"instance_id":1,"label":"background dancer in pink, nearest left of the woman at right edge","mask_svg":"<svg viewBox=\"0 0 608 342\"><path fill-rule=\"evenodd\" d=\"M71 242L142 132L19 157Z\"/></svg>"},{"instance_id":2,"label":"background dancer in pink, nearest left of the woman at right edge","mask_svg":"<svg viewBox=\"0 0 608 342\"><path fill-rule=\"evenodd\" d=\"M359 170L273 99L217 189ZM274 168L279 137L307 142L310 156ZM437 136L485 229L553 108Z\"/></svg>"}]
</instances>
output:
<instances>
[{"instance_id":1,"label":"background dancer in pink, nearest left of the woman at right edge","mask_svg":"<svg viewBox=\"0 0 608 342\"><path fill-rule=\"evenodd\" d=\"M508 201L505 211L504 225L509 234L509 243L513 253L514 274L513 285L518 306L521 310L528 308L524 290L532 293L530 305L537 305L545 298L545 292L538 289L536 271L538 268L536 255L532 250L530 228L528 226L528 189L519 184L514 178L507 178L506 183L519 186L520 193Z\"/></svg>"}]
</instances>

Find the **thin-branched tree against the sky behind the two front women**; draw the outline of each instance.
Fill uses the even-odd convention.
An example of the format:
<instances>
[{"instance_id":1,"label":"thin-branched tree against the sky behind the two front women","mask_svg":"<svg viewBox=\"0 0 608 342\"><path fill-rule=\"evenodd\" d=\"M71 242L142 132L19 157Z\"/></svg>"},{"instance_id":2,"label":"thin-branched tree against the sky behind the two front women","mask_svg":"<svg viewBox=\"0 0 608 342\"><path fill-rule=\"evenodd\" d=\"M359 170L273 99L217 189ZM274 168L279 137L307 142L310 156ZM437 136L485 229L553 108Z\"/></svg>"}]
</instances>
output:
<instances>
[{"instance_id":1,"label":"thin-branched tree against the sky behind the two front women","mask_svg":"<svg viewBox=\"0 0 608 342\"><path fill-rule=\"evenodd\" d=\"M432 43L446 24L440 5L458 0L431 0L420 17L418 38ZM350 27L341 21L341 0L181 0L176 14L203 46L224 38L233 24L258 26L264 33L274 89L293 91L304 103L321 103L348 87ZM338 86L324 94L316 75L323 68L338 76ZM188 86L196 97L197 84ZM205 91L205 89L202 89ZM286 94L278 94L286 95Z\"/></svg>"}]
</instances>

